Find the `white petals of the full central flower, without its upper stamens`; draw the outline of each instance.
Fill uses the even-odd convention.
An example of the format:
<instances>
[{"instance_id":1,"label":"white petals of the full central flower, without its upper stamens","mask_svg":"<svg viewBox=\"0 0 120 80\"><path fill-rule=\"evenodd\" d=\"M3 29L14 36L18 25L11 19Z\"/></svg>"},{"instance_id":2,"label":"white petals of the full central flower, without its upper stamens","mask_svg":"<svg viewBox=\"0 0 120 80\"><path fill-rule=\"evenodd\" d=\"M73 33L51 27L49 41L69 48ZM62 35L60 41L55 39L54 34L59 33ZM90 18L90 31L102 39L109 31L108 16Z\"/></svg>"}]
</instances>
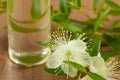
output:
<instances>
[{"instance_id":1,"label":"white petals of the full central flower, without its upper stamens","mask_svg":"<svg viewBox=\"0 0 120 80\"><path fill-rule=\"evenodd\" d=\"M58 68L61 66L61 69L64 73L71 77L75 77L77 75L77 70L65 64L64 61L76 62L83 65L84 67L88 66L90 56L86 50L83 51L80 49L80 42L78 40L73 40L68 44L59 46L48 59L47 67Z\"/></svg>"}]
</instances>

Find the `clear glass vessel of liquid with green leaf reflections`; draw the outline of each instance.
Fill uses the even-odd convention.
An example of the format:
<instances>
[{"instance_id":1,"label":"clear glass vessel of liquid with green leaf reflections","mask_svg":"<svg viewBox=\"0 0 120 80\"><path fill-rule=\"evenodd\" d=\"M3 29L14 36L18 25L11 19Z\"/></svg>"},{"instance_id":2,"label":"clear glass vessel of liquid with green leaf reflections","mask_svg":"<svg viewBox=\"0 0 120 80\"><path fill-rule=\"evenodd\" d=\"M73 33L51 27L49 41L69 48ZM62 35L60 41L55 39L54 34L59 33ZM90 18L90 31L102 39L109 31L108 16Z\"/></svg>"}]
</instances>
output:
<instances>
[{"instance_id":1,"label":"clear glass vessel of liquid with green leaf reflections","mask_svg":"<svg viewBox=\"0 0 120 80\"><path fill-rule=\"evenodd\" d=\"M38 41L49 40L50 0L8 0L10 59L27 67L44 63L50 53Z\"/></svg>"}]
</instances>

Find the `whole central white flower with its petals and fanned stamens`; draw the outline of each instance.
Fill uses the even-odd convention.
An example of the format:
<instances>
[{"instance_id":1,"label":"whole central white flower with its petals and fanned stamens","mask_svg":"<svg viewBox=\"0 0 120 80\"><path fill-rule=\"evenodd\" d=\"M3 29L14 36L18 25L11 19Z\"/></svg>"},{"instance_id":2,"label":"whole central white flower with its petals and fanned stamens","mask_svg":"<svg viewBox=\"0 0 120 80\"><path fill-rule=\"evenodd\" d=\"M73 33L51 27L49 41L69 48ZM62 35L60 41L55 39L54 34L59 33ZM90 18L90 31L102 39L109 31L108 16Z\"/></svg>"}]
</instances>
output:
<instances>
[{"instance_id":1,"label":"whole central white flower with its petals and fanned stamens","mask_svg":"<svg viewBox=\"0 0 120 80\"><path fill-rule=\"evenodd\" d=\"M60 31L61 32L61 31ZM68 31L62 31L60 34L56 32L53 35L53 42L55 42L53 54L47 60L48 68L58 68L70 77L75 77L78 70L64 61L72 61L87 67L89 64L89 53L87 50L87 43L83 41L83 35L77 35L75 39L71 40L71 34Z\"/></svg>"}]
</instances>

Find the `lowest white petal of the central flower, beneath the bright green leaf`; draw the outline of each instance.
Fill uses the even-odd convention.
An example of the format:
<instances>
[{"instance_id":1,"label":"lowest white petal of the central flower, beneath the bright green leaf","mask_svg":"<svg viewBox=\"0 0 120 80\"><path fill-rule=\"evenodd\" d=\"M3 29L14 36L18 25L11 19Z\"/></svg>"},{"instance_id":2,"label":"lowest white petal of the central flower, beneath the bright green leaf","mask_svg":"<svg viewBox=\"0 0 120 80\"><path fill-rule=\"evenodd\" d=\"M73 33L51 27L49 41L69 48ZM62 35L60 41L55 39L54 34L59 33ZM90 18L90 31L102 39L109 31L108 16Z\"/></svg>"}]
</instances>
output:
<instances>
[{"instance_id":1,"label":"lowest white petal of the central flower, beneath the bright green leaf","mask_svg":"<svg viewBox=\"0 0 120 80\"><path fill-rule=\"evenodd\" d=\"M63 63L61 66L62 71L70 77L75 77L77 75L77 69L69 66L68 64Z\"/></svg>"}]
</instances>

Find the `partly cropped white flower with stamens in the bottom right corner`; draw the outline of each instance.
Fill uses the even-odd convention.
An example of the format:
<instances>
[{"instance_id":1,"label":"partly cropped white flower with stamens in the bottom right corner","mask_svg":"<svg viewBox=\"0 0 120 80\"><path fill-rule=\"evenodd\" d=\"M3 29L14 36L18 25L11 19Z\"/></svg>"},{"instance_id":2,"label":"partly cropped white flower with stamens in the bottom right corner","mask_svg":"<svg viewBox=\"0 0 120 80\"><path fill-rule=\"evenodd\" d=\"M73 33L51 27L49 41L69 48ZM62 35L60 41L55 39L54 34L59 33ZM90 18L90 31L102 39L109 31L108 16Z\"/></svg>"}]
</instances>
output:
<instances>
[{"instance_id":1,"label":"partly cropped white flower with stamens in the bottom right corner","mask_svg":"<svg viewBox=\"0 0 120 80\"><path fill-rule=\"evenodd\" d=\"M104 77L106 80L119 80L120 60L114 57L105 62L100 55L95 56L91 58L89 70ZM92 78L86 75L81 80L92 80Z\"/></svg>"}]
</instances>

